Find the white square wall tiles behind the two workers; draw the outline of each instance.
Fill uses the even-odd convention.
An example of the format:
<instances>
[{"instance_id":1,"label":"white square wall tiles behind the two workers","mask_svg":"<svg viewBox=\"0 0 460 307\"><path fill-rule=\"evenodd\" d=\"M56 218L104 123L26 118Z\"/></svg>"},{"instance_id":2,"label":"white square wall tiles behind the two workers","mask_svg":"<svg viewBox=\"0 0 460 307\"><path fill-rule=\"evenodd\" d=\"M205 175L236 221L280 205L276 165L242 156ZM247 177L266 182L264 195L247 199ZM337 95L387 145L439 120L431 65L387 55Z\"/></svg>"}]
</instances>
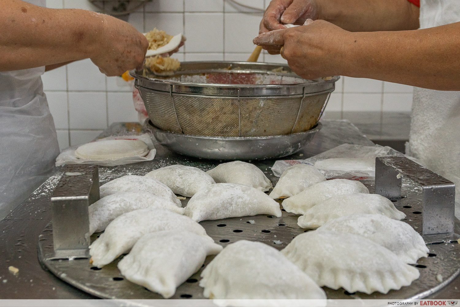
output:
<instances>
[{"instance_id":1,"label":"white square wall tiles behind the two workers","mask_svg":"<svg viewBox=\"0 0 460 307\"><path fill-rule=\"evenodd\" d=\"M152 0L125 20L141 32L157 28L187 42L174 55L180 61L245 61L259 32L269 0ZM47 0L51 8L100 11L87 0ZM247 7L250 6L250 7ZM251 7L255 7L253 9ZM259 61L286 63L263 52ZM106 77L87 59L46 72L44 90L61 148L86 143L113 122L136 122L131 86L120 77ZM371 79L342 77L325 111L410 112L412 87ZM341 118L343 115L341 116Z\"/></svg>"}]
</instances>

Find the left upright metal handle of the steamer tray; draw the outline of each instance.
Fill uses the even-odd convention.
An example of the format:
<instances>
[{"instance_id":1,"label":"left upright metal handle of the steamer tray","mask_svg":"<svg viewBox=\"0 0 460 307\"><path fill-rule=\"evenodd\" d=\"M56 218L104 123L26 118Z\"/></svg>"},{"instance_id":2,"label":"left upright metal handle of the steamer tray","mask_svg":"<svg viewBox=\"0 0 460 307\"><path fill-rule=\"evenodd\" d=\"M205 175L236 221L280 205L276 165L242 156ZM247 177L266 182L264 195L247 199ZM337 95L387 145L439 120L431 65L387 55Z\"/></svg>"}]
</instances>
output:
<instances>
[{"instance_id":1,"label":"left upright metal handle of the steamer tray","mask_svg":"<svg viewBox=\"0 0 460 307\"><path fill-rule=\"evenodd\" d=\"M54 255L48 259L89 258L88 206L99 199L97 165L69 165L51 197Z\"/></svg>"}]
</instances>

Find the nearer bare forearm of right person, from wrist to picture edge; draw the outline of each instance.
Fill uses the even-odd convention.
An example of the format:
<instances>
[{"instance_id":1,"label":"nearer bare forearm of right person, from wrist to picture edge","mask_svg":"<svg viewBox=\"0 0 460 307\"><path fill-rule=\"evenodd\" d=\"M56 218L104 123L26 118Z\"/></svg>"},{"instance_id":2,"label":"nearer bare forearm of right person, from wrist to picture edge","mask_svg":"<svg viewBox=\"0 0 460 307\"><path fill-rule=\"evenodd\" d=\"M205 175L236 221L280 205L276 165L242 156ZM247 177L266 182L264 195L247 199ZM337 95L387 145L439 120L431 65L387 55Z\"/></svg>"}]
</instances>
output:
<instances>
[{"instance_id":1,"label":"nearer bare forearm of right person, from wrist to picture edge","mask_svg":"<svg viewBox=\"0 0 460 307\"><path fill-rule=\"evenodd\" d=\"M460 23L451 23L414 31L351 33L342 74L460 91L459 31Z\"/></svg>"}]
</instances>

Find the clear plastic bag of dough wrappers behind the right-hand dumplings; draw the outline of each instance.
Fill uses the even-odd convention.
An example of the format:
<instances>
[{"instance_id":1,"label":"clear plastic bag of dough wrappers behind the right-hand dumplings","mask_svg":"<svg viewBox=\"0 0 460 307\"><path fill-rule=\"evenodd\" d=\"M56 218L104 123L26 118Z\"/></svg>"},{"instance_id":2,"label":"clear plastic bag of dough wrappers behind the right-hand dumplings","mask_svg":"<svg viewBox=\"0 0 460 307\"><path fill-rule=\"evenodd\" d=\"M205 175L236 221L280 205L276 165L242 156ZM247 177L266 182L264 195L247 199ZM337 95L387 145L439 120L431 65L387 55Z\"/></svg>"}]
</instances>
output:
<instances>
[{"instance_id":1,"label":"clear plastic bag of dough wrappers behind the right-hand dumplings","mask_svg":"<svg viewBox=\"0 0 460 307\"><path fill-rule=\"evenodd\" d=\"M271 168L273 174L276 177L281 174L294 164L305 163L315 166L316 162L325 162L327 159L345 158L353 162L357 162L356 165L369 165L371 168L368 169L352 169L351 164L343 163L340 165L340 161L334 163L336 169L331 168L320 168L317 167L321 173L328 179L349 179L349 180L365 180L375 178L375 158L378 156L404 156L403 153L394 150L388 146L363 146L353 144L342 144L334 147L328 151L324 151L316 156L312 156L305 160L278 160ZM330 162L334 162L329 160ZM332 165L332 163L330 164ZM373 170L371 170L373 169Z\"/></svg>"}]
</instances>

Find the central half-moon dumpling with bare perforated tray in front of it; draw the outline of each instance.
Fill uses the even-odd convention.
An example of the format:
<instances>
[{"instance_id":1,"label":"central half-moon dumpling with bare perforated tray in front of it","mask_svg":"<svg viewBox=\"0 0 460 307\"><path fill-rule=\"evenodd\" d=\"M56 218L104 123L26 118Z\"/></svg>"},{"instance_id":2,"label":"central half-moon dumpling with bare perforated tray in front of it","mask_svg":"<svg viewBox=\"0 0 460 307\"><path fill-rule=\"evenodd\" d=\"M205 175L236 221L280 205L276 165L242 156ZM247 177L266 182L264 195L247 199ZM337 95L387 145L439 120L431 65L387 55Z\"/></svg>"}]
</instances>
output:
<instances>
[{"instance_id":1,"label":"central half-moon dumpling with bare perforated tray in front of it","mask_svg":"<svg viewBox=\"0 0 460 307\"><path fill-rule=\"evenodd\" d=\"M256 188L235 183L216 183L198 191L184 211L197 222L257 214L281 217L280 205Z\"/></svg>"}]
</instances>

